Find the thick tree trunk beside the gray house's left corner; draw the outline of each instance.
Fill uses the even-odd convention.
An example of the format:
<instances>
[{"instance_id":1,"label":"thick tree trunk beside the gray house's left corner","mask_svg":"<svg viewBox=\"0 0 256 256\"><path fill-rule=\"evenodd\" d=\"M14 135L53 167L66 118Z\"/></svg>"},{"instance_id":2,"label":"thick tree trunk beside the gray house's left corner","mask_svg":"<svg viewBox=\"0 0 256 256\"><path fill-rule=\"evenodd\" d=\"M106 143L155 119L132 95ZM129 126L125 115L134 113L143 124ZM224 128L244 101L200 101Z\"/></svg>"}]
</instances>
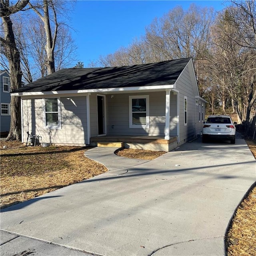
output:
<instances>
[{"instance_id":1,"label":"thick tree trunk beside the gray house's left corner","mask_svg":"<svg viewBox=\"0 0 256 256\"><path fill-rule=\"evenodd\" d=\"M20 68L20 53L16 47L14 33L12 30L12 21L10 16L2 17L4 31L6 36L6 57L8 58L10 68L10 89L11 91L21 87L22 71ZM20 117L20 97L11 96L11 123L10 132L6 140L21 139L21 117Z\"/></svg>"}]
</instances>

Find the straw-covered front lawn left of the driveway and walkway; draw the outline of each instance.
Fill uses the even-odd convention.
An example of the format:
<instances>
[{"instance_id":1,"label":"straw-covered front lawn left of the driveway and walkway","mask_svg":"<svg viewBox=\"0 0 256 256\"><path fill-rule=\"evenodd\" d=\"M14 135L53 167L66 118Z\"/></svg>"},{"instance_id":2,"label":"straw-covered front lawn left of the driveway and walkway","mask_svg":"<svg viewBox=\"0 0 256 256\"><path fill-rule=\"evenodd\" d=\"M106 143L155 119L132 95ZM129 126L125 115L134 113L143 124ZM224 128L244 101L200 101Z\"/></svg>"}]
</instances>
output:
<instances>
[{"instance_id":1,"label":"straw-covered front lawn left of the driveway and walkway","mask_svg":"<svg viewBox=\"0 0 256 256\"><path fill-rule=\"evenodd\" d=\"M84 156L88 147L26 147L20 142L1 141L1 148L3 145L7 149L0 152L1 208L107 171Z\"/></svg>"}]
</instances>

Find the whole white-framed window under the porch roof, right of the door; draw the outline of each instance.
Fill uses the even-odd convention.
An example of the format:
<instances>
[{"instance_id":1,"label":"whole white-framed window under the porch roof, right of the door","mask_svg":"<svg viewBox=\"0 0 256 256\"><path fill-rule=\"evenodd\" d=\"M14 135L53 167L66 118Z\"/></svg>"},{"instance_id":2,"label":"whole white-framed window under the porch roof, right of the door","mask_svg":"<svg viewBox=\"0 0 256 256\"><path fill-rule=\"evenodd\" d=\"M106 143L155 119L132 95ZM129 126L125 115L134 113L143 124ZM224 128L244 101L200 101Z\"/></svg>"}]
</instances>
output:
<instances>
[{"instance_id":1,"label":"whole white-framed window under the porch roof, right of the door","mask_svg":"<svg viewBox=\"0 0 256 256\"><path fill-rule=\"evenodd\" d=\"M149 96L129 96L129 127L149 127Z\"/></svg>"}]
</instances>

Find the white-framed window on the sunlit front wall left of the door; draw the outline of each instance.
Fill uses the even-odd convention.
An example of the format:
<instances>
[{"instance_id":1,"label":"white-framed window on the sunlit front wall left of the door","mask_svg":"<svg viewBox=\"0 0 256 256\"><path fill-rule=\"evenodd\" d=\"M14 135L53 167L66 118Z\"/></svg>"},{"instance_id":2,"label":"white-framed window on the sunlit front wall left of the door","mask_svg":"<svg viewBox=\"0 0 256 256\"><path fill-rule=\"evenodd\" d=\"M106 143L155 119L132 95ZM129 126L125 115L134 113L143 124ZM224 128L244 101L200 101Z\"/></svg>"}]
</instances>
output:
<instances>
[{"instance_id":1,"label":"white-framed window on the sunlit front wall left of the door","mask_svg":"<svg viewBox=\"0 0 256 256\"><path fill-rule=\"evenodd\" d=\"M61 129L60 98L44 100L44 124L48 129Z\"/></svg>"}]
</instances>

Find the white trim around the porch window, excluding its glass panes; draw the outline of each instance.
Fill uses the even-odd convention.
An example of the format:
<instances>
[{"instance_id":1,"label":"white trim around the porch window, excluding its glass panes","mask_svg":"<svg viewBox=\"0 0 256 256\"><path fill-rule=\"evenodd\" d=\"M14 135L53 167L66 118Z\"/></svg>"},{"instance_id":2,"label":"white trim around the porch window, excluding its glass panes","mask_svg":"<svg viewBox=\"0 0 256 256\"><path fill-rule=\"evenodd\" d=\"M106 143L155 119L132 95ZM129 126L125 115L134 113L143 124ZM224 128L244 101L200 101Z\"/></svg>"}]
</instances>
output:
<instances>
[{"instance_id":1,"label":"white trim around the porch window, excluding its glass panes","mask_svg":"<svg viewBox=\"0 0 256 256\"><path fill-rule=\"evenodd\" d=\"M132 112L132 100L133 99L146 99L146 111ZM141 125L132 124L132 114L133 113L146 113L146 124L141 124ZM129 96L129 128L149 128L149 96L148 95Z\"/></svg>"}]
</instances>

